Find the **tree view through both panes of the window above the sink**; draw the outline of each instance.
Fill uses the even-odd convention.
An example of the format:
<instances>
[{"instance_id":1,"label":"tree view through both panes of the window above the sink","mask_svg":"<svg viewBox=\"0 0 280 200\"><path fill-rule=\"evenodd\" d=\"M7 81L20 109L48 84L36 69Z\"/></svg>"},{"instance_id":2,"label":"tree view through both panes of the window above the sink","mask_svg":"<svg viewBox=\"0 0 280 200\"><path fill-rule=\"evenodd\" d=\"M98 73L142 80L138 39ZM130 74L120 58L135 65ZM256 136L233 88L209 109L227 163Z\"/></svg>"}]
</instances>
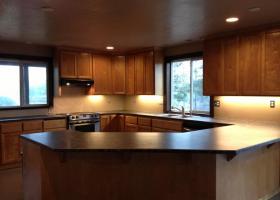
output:
<instances>
[{"instance_id":1,"label":"tree view through both panes of the window above the sink","mask_svg":"<svg viewBox=\"0 0 280 200\"><path fill-rule=\"evenodd\" d=\"M185 59L171 62L170 106L184 106L186 112L210 112L210 97L203 96L203 60Z\"/></svg>"}]
</instances>

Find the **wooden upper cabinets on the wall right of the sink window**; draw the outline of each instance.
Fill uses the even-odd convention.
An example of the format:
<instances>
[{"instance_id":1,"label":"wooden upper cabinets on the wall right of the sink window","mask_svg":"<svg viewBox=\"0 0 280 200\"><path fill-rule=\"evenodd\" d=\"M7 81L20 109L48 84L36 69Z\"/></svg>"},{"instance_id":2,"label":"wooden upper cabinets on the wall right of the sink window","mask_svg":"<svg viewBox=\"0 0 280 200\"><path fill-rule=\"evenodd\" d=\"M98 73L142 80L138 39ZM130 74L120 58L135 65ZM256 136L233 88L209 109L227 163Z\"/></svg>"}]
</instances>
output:
<instances>
[{"instance_id":1,"label":"wooden upper cabinets on the wall right of the sink window","mask_svg":"<svg viewBox=\"0 0 280 200\"><path fill-rule=\"evenodd\" d=\"M280 30L204 43L204 95L280 95Z\"/></svg>"}]
</instances>

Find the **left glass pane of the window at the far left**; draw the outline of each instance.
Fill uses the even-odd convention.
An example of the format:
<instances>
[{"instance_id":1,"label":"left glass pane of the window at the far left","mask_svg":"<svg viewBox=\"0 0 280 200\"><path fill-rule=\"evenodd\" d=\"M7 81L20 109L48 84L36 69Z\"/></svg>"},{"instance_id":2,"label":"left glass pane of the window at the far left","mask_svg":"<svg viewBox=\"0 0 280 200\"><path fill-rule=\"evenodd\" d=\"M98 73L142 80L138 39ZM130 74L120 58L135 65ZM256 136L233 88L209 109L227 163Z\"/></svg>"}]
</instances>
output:
<instances>
[{"instance_id":1,"label":"left glass pane of the window at the far left","mask_svg":"<svg viewBox=\"0 0 280 200\"><path fill-rule=\"evenodd\" d=\"M0 64L0 107L20 106L20 69Z\"/></svg>"}]
</instances>

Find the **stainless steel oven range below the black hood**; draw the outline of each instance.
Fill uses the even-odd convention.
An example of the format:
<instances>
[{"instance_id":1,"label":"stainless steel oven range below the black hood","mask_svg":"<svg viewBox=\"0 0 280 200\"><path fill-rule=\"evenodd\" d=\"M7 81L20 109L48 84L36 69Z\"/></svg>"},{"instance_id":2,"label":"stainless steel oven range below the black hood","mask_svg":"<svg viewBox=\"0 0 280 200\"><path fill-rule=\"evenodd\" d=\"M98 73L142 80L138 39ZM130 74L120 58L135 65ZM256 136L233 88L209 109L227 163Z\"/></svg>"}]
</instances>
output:
<instances>
[{"instance_id":1,"label":"stainless steel oven range below the black hood","mask_svg":"<svg viewBox=\"0 0 280 200\"><path fill-rule=\"evenodd\" d=\"M100 131L100 116L97 113L72 113L68 115L70 130L80 132Z\"/></svg>"}]
</instances>

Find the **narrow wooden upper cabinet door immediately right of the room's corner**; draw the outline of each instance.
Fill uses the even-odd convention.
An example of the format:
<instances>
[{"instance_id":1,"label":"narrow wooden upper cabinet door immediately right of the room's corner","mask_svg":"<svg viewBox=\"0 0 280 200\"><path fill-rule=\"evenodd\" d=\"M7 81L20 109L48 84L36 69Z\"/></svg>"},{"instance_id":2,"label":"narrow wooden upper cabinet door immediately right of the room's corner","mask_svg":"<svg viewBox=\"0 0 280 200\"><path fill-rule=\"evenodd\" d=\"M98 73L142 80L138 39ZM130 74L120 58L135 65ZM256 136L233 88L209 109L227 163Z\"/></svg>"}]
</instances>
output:
<instances>
[{"instance_id":1,"label":"narrow wooden upper cabinet door immediately right of the room's corner","mask_svg":"<svg viewBox=\"0 0 280 200\"><path fill-rule=\"evenodd\" d=\"M135 94L135 63L134 55L126 57L125 66L125 93L127 95Z\"/></svg>"}]
</instances>

